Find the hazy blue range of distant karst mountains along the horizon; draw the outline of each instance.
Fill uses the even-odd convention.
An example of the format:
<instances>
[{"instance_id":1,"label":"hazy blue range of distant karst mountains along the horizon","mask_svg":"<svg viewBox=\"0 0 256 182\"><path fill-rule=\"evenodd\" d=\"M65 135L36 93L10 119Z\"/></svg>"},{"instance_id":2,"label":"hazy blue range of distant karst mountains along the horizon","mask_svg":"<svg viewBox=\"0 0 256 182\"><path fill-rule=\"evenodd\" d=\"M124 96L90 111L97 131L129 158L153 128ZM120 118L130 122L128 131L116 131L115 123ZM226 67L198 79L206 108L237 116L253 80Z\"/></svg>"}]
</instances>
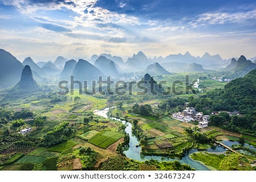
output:
<instances>
[{"instance_id":1,"label":"hazy blue range of distant karst mountains along the horizon","mask_svg":"<svg viewBox=\"0 0 256 182\"><path fill-rule=\"evenodd\" d=\"M148 58L142 51L139 51L129 57L127 61L123 61L119 56L102 53L99 56L93 55L88 61L83 59L67 60L63 56L58 56L54 62L35 63L31 57L26 57L21 63L10 52L0 49L0 86L5 88L16 84L25 65L30 66L36 80L42 78L69 80L73 75L83 81L98 79L99 76L119 77L130 73L170 75L175 72L203 72L210 69L228 71L233 73L233 77L240 77L256 68L256 64L254 64L256 57L253 59L252 62L241 56L239 59L223 60L220 55L212 56L209 53L195 57L189 52L184 55L179 53L166 57Z\"/></svg>"}]
</instances>

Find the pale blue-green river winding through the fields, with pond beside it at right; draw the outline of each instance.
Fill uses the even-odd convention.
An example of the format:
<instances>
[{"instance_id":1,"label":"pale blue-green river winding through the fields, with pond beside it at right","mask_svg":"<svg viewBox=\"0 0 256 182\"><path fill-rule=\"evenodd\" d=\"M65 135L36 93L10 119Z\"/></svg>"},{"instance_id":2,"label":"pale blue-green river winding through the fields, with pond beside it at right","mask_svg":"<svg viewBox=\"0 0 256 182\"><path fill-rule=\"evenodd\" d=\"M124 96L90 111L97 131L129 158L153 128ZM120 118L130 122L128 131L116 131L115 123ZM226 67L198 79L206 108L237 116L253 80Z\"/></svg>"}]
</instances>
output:
<instances>
[{"instance_id":1,"label":"pale blue-green river winding through the fields, with pond beside it at right","mask_svg":"<svg viewBox=\"0 0 256 182\"><path fill-rule=\"evenodd\" d=\"M108 111L109 111L109 109L106 108L104 110L94 110L93 113L97 114L97 115L101 115L102 117L108 118L108 115L107 115ZM110 119L122 122L126 126L125 131L127 134L129 134L129 137L130 137L129 149L124 151L124 154L126 155L127 158L139 160L139 161L145 161L145 160L150 160L150 159L154 159L154 160L158 160L158 161L178 160L181 164L188 164L192 168L195 168L197 171L209 171L210 170L207 167L205 167L203 164L196 162L195 160L192 160L191 158L189 158L188 155L193 152L196 152L197 151L196 149L189 151L189 153L187 155L185 155L182 159L171 159L171 158L167 158L166 156L142 155L141 147L138 146L139 141L138 141L137 137L131 133L131 127L132 127L131 123L127 122L127 121L123 121L118 118L110 118ZM226 150L225 150L225 148L216 146L215 148L210 148L207 151L209 151L209 152L224 152Z\"/></svg>"}]
</instances>

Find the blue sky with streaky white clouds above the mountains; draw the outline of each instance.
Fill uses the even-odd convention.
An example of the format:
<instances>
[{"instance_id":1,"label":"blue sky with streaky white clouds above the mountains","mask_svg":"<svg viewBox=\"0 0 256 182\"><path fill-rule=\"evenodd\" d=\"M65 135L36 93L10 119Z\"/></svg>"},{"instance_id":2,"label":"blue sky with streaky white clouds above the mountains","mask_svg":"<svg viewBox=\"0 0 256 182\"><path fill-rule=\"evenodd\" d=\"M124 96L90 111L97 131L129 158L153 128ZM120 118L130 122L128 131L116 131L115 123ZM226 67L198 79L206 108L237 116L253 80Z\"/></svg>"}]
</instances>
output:
<instances>
[{"instance_id":1,"label":"blue sky with streaky white clouds above the mountains","mask_svg":"<svg viewBox=\"0 0 256 182\"><path fill-rule=\"evenodd\" d=\"M255 0L1 0L0 48L23 61L185 52L256 56Z\"/></svg>"}]
</instances>

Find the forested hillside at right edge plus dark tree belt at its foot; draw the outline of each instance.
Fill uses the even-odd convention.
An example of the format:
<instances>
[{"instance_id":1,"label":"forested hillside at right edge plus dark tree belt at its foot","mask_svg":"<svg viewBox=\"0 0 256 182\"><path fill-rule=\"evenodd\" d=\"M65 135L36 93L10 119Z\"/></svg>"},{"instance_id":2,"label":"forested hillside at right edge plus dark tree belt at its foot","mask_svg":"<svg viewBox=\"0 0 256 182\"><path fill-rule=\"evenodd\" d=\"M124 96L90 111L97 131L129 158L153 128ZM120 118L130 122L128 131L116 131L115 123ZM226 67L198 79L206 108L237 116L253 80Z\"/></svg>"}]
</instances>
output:
<instances>
[{"instance_id":1,"label":"forested hillside at right edge plus dark tree belt at its foot","mask_svg":"<svg viewBox=\"0 0 256 182\"><path fill-rule=\"evenodd\" d=\"M212 90L198 99L189 98L189 102L205 114L222 111L212 116L213 125L256 135L256 69L244 77L232 80L224 89ZM239 114L230 117L224 111Z\"/></svg>"}]
</instances>

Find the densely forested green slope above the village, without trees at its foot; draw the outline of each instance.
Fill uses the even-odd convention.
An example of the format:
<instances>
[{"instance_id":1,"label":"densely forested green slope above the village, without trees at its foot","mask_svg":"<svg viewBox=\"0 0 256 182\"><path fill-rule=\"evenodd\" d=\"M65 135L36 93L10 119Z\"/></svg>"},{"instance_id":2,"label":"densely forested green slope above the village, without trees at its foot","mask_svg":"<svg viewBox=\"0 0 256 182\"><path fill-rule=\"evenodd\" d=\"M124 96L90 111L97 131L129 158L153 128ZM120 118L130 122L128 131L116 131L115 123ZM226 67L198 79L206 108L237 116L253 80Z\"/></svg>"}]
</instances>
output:
<instances>
[{"instance_id":1,"label":"densely forested green slope above the village, without trees at its foot","mask_svg":"<svg viewBox=\"0 0 256 182\"><path fill-rule=\"evenodd\" d=\"M256 69L244 77L232 80L224 89L208 92L200 100L197 104L201 104L201 107L210 107L215 111L238 110L242 114L253 113L256 110Z\"/></svg>"}]
</instances>

